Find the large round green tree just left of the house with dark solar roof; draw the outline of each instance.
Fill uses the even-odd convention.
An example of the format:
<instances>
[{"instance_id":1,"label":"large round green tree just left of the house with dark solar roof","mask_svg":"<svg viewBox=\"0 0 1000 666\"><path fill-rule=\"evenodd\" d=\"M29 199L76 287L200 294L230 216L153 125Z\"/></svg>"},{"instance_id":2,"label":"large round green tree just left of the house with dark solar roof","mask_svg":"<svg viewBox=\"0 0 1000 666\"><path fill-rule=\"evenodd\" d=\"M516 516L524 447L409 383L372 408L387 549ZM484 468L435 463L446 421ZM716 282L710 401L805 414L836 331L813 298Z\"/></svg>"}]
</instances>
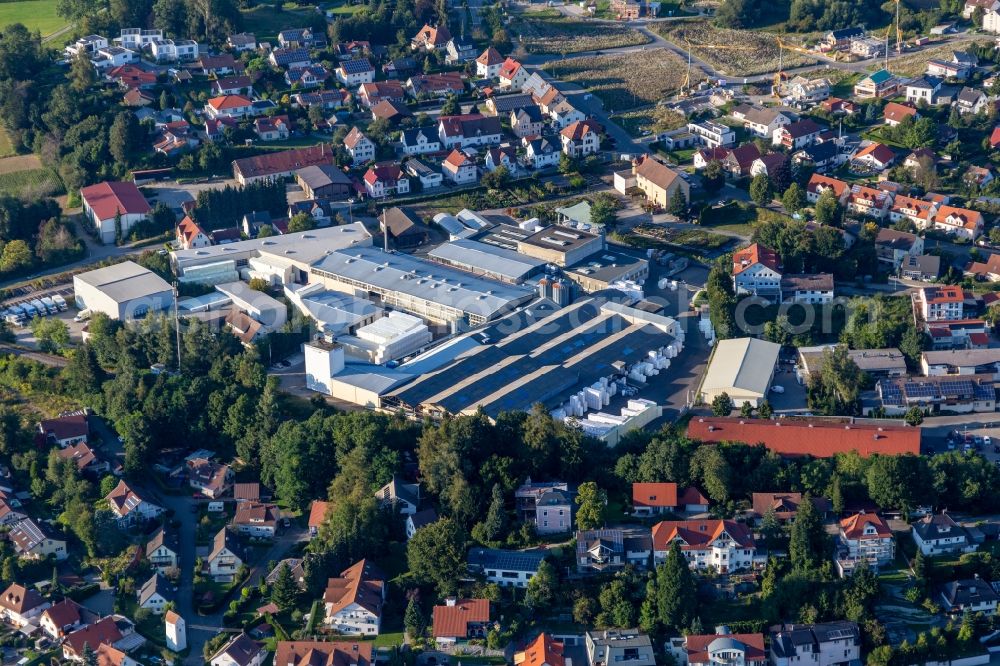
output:
<instances>
[{"instance_id":1,"label":"large round green tree just left of the house with dark solar roof","mask_svg":"<svg viewBox=\"0 0 1000 666\"><path fill-rule=\"evenodd\" d=\"M465 573L465 532L451 518L431 523L407 543L406 559L417 581L434 584L441 596L451 594Z\"/></svg>"}]
</instances>

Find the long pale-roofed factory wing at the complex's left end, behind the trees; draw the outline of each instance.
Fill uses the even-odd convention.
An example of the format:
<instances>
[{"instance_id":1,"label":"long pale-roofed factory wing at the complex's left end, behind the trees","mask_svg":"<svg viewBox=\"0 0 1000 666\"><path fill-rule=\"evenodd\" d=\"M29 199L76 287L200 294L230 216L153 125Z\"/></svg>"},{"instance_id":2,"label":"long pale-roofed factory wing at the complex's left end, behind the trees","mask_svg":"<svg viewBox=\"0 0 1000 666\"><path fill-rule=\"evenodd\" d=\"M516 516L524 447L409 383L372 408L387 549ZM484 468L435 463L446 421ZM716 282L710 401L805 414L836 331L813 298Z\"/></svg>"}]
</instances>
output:
<instances>
[{"instance_id":1,"label":"long pale-roofed factory wing at the complex's left end, behind the trees","mask_svg":"<svg viewBox=\"0 0 1000 666\"><path fill-rule=\"evenodd\" d=\"M267 281L280 284L304 283L309 274L309 265L335 250L348 247L368 247L372 244L371 234L361 222L336 227L313 229L294 234L268 236L252 240L199 247L191 250L177 250L170 253L170 265L181 282L202 282L217 284L209 276L199 275L202 269L223 267L218 276L231 275L232 271L249 271L251 260L256 265L256 274L249 277L263 277ZM231 262L231 263L229 263ZM225 267L229 267L228 271ZM220 280L231 282L229 280Z\"/></svg>"}]
</instances>

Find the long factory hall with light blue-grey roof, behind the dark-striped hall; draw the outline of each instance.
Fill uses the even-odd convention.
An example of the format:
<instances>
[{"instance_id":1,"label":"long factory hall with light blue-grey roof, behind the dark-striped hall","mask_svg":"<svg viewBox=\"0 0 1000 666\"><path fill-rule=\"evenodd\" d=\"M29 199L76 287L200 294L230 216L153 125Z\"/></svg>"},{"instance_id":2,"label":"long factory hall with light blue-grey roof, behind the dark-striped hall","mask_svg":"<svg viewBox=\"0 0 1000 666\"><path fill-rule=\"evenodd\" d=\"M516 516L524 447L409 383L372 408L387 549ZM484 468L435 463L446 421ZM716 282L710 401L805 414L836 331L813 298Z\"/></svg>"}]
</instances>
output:
<instances>
[{"instance_id":1,"label":"long factory hall with light blue-grey roof, behind the dark-striped hall","mask_svg":"<svg viewBox=\"0 0 1000 666\"><path fill-rule=\"evenodd\" d=\"M501 317L531 300L534 293L370 247L329 253L310 268L309 281L458 327Z\"/></svg>"}]
</instances>

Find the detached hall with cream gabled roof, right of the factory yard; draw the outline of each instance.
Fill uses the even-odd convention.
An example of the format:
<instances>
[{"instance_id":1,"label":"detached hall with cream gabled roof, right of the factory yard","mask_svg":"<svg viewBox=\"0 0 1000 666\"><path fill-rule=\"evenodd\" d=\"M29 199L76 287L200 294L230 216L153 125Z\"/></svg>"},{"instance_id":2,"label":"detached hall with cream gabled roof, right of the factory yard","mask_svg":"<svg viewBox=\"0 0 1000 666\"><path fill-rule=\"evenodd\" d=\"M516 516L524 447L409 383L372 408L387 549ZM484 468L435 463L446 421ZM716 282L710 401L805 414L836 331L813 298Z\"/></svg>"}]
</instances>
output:
<instances>
[{"instance_id":1,"label":"detached hall with cream gabled roof, right of the factory yard","mask_svg":"<svg viewBox=\"0 0 1000 666\"><path fill-rule=\"evenodd\" d=\"M759 407L767 398L781 345L756 338L720 340L701 385L707 403L726 393L739 407L749 402Z\"/></svg>"}]
</instances>

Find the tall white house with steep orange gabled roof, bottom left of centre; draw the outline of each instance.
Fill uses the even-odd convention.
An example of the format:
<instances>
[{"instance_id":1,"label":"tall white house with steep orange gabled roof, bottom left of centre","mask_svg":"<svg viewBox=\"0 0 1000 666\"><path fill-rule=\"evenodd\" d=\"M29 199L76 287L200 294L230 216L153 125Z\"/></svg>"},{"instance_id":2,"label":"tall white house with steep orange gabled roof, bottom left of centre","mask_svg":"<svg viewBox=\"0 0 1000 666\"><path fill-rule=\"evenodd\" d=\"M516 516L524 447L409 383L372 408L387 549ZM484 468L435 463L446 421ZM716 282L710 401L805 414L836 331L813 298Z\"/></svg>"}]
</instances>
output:
<instances>
[{"instance_id":1,"label":"tall white house with steep orange gabled roof, bottom left of centre","mask_svg":"<svg viewBox=\"0 0 1000 666\"><path fill-rule=\"evenodd\" d=\"M367 560L330 578L323 593L323 623L343 634L377 636L382 625L385 584L385 574Z\"/></svg>"}]
</instances>

